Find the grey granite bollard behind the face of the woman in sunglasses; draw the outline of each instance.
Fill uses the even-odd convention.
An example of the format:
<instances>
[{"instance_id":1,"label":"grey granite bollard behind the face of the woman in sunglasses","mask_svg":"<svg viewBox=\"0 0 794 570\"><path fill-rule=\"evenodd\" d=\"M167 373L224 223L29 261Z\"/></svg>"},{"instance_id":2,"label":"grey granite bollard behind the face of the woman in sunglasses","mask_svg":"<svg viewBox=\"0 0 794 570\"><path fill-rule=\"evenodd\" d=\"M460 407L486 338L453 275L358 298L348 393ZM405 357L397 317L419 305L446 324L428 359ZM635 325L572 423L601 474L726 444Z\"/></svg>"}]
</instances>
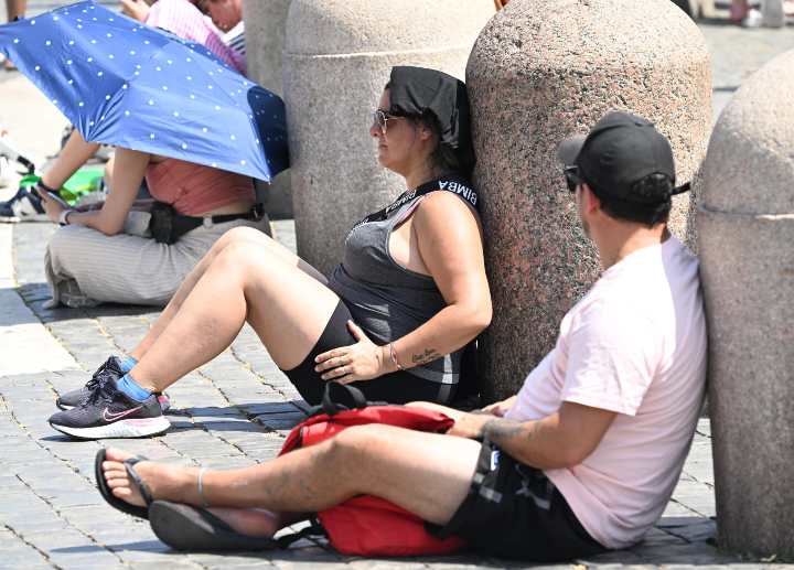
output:
<instances>
[{"instance_id":1,"label":"grey granite bollard behind the face of the woman in sunglasses","mask_svg":"<svg viewBox=\"0 0 794 570\"><path fill-rule=\"evenodd\" d=\"M283 77L298 252L323 272L347 230L405 190L378 165L372 114L394 65L463 77L493 0L292 0Z\"/></svg>"}]
</instances>

